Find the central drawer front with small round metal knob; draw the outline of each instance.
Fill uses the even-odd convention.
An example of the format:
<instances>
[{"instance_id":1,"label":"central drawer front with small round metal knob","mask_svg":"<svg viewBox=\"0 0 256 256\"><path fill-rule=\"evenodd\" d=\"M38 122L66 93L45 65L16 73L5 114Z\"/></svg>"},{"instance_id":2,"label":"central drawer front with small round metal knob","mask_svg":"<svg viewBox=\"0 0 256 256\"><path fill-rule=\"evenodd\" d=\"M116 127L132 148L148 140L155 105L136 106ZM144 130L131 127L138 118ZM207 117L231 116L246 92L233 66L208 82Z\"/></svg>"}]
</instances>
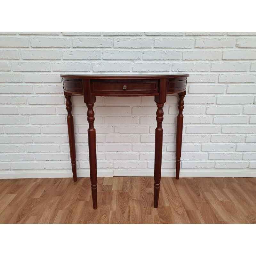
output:
<instances>
[{"instance_id":1,"label":"central drawer front with small round metal knob","mask_svg":"<svg viewBox=\"0 0 256 256\"><path fill-rule=\"evenodd\" d=\"M92 95L156 95L158 80L91 80Z\"/></svg>"}]
</instances>

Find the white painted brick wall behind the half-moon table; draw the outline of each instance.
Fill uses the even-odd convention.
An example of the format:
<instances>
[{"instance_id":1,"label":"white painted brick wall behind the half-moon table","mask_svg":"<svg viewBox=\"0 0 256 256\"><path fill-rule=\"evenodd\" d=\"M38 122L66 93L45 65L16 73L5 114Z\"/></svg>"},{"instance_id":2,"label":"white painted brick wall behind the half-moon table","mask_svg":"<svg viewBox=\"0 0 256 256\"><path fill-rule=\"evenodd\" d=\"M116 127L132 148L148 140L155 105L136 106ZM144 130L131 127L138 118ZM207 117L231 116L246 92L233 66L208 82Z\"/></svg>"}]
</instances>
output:
<instances>
[{"instance_id":1,"label":"white painted brick wall behind the half-moon table","mask_svg":"<svg viewBox=\"0 0 256 256\"><path fill-rule=\"evenodd\" d=\"M71 177L60 73L189 73L181 176L256 176L256 32L0 33L0 178ZM177 95L164 106L174 176ZM86 106L73 96L78 176ZM153 176L154 97L96 97L98 176ZM17 177L18 177L17 176Z\"/></svg>"}]
</instances>

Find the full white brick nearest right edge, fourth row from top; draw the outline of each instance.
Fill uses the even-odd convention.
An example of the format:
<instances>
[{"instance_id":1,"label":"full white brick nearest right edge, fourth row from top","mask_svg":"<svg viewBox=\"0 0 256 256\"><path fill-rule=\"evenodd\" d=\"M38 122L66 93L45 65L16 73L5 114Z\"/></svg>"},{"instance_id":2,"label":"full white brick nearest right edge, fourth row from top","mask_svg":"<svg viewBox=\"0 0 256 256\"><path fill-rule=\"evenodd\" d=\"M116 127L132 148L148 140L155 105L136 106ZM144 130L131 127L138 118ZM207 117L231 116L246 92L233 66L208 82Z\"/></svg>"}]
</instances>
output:
<instances>
[{"instance_id":1,"label":"full white brick nearest right edge, fourth row from top","mask_svg":"<svg viewBox=\"0 0 256 256\"><path fill-rule=\"evenodd\" d=\"M211 71L248 71L249 62L215 62L211 65Z\"/></svg>"}]
</instances>

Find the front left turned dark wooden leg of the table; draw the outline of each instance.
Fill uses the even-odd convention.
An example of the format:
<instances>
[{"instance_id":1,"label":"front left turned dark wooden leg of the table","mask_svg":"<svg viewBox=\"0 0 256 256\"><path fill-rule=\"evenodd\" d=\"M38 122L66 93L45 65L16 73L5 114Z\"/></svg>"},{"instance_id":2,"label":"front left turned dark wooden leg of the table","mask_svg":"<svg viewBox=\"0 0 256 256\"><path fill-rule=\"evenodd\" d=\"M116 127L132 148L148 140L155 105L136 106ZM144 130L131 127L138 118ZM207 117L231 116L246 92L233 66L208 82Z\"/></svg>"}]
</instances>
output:
<instances>
[{"instance_id":1,"label":"front left turned dark wooden leg of the table","mask_svg":"<svg viewBox=\"0 0 256 256\"><path fill-rule=\"evenodd\" d=\"M96 158L96 131L93 126L94 123L94 111L93 103L86 104L87 110L87 120L89 123L88 128L88 143L89 143L89 161L90 161L90 177L91 177L91 187L92 187L92 204L93 209L97 209L97 158Z\"/></svg>"}]
</instances>

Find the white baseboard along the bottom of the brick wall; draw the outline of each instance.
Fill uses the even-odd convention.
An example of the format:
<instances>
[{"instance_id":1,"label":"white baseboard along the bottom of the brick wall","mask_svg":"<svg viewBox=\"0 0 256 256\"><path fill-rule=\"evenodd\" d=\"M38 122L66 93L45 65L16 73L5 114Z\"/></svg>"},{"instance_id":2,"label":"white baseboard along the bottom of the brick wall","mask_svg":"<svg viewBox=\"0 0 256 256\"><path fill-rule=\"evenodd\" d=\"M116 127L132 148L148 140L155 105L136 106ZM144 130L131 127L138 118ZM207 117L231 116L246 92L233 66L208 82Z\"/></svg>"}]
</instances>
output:
<instances>
[{"instance_id":1,"label":"white baseboard along the bottom of the brick wall","mask_svg":"<svg viewBox=\"0 0 256 256\"><path fill-rule=\"evenodd\" d=\"M253 170L253 169L252 169ZM154 170L143 171L143 170L99 170L97 172L98 177L112 177L112 176L154 176ZM175 177L175 170L162 170L162 177ZM0 179L29 179L29 178L71 178L72 172L67 171L2 171L0 172ZM90 177L90 172L78 171L77 177ZM256 171L248 169L182 169L180 170L180 177L252 177L256 178Z\"/></svg>"}]
</instances>

